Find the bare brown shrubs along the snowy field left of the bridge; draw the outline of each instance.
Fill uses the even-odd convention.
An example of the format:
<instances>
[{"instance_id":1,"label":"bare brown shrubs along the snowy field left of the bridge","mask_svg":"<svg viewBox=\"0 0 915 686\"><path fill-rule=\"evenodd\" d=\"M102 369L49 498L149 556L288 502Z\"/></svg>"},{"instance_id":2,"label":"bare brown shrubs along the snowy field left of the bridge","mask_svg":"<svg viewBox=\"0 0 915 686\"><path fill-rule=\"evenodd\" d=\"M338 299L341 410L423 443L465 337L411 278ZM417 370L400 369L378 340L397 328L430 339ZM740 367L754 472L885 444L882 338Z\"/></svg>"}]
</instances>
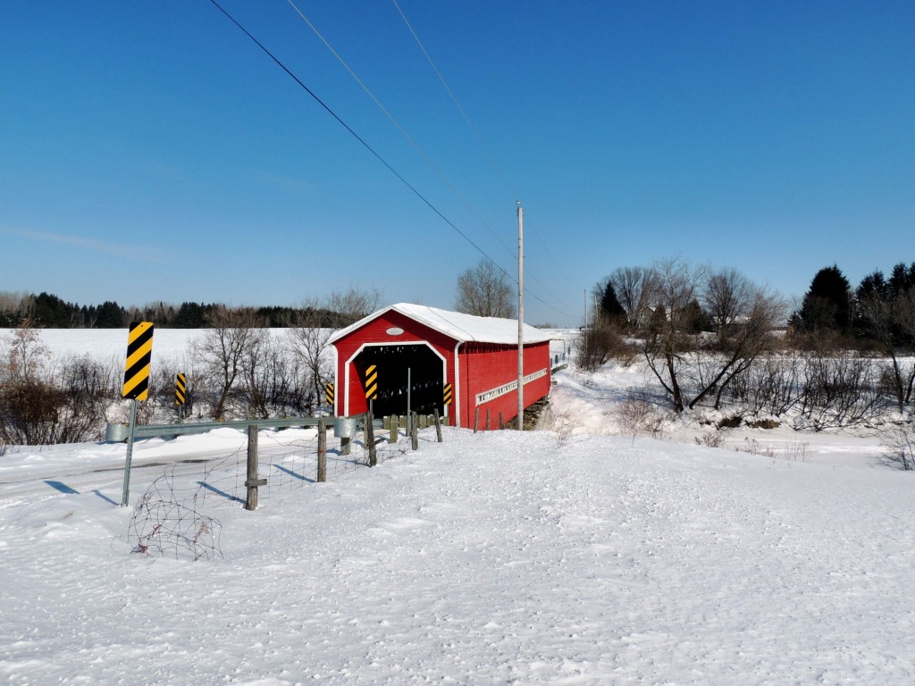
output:
<instances>
[{"instance_id":1,"label":"bare brown shrubs along the snowy field left of the bridge","mask_svg":"<svg viewBox=\"0 0 915 686\"><path fill-rule=\"evenodd\" d=\"M175 409L178 372L187 374L188 416L314 413L333 378L325 354L330 337L377 309L379 297L351 288L309 301L276 335L253 308L212 306L184 353L156 360L141 420L149 423L153 413ZM0 456L6 445L101 440L106 422L124 419L123 379L121 359L52 355L41 327L27 318L0 336Z\"/></svg>"}]
</instances>

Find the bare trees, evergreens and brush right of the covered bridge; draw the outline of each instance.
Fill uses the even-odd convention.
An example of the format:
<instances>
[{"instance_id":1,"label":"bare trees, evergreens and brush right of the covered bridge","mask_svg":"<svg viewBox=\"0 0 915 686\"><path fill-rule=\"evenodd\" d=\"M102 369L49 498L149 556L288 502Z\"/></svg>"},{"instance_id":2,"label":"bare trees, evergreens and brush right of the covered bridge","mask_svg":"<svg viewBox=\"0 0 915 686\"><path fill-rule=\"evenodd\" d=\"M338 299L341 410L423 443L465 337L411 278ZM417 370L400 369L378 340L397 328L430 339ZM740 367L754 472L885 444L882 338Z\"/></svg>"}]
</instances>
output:
<instances>
[{"instance_id":1,"label":"bare trees, evergreens and brush right of the covered bridge","mask_svg":"<svg viewBox=\"0 0 915 686\"><path fill-rule=\"evenodd\" d=\"M736 269L678 259L619 267L594 295L579 367L641 357L677 413L727 402L741 419L791 411L823 428L875 421L887 398L899 413L915 400L915 263L855 289L824 267L790 316L780 295Z\"/></svg>"}]
</instances>

